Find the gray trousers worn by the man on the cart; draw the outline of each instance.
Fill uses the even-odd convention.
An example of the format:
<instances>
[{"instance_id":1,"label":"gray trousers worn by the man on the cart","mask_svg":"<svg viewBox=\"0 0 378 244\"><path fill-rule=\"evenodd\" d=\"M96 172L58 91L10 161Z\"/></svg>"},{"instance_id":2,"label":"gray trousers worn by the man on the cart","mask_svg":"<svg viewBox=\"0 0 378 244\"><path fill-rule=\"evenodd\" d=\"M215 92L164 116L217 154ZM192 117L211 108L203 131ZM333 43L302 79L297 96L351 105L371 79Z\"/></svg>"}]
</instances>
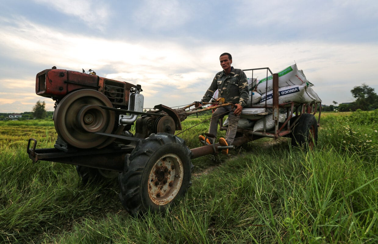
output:
<instances>
[{"instance_id":1,"label":"gray trousers worn by the man on the cart","mask_svg":"<svg viewBox=\"0 0 378 244\"><path fill-rule=\"evenodd\" d=\"M237 123L239 122L240 115L236 116L234 111L231 110L231 105L226 107L218 107L211 116L209 133L217 137L218 132L218 119L228 115L228 129L226 132L226 141L228 145L232 145L237 131Z\"/></svg>"}]
</instances>

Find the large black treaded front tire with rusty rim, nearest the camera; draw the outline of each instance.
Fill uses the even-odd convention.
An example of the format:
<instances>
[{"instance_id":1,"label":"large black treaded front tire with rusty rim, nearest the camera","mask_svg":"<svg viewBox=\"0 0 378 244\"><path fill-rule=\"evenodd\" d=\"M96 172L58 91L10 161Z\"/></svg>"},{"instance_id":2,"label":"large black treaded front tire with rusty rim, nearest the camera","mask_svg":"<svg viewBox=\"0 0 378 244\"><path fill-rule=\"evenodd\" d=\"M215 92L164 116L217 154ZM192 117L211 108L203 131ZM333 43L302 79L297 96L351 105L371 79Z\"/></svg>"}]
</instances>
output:
<instances>
[{"instance_id":1,"label":"large black treaded front tire with rusty rim, nearest the camera","mask_svg":"<svg viewBox=\"0 0 378 244\"><path fill-rule=\"evenodd\" d=\"M118 177L119 198L134 216L164 211L191 186L191 151L174 135L151 134L125 161Z\"/></svg>"}]
</instances>

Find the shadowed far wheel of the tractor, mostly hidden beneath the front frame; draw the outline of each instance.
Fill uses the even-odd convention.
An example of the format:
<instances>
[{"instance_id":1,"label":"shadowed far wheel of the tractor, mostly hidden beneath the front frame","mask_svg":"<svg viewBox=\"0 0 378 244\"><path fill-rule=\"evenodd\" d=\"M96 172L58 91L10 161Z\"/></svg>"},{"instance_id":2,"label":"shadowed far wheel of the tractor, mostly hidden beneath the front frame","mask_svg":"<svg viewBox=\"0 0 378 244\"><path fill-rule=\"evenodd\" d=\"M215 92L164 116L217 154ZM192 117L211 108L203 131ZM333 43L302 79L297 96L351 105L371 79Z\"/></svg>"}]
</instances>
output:
<instances>
[{"instance_id":1,"label":"shadowed far wheel of the tractor, mostly hidden beneath the front frame","mask_svg":"<svg viewBox=\"0 0 378 244\"><path fill-rule=\"evenodd\" d=\"M76 165L76 171L77 174L80 176L83 185L86 185L89 180L99 182L104 179L115 179L116 177L118 177L119 174L119 172L117 171L96 169L80 165Z\"/></svg>"}]
</instances>

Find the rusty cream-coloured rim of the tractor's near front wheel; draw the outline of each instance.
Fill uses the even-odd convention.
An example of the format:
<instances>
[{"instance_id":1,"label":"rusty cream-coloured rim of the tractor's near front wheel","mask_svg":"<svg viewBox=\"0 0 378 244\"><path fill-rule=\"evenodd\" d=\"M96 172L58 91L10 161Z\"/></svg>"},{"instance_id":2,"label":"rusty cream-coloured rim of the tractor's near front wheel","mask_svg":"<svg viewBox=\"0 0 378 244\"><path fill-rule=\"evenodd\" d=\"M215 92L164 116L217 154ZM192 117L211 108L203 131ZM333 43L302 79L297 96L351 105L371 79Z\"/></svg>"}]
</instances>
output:
<instances>
[{"instance_id":1,"label":"rusty cream-coloured rim of the tractor's near front wheel","mask_svg":"<svg viewBox=\"0 0 378 244\"><path fill-rule=\"evenodd\" d=\"M174 200L183 183L184 169L180 157L165 154L153 165L148 180L148 194L156 205L166 205Z\"/></svg>"}]
</instances>

